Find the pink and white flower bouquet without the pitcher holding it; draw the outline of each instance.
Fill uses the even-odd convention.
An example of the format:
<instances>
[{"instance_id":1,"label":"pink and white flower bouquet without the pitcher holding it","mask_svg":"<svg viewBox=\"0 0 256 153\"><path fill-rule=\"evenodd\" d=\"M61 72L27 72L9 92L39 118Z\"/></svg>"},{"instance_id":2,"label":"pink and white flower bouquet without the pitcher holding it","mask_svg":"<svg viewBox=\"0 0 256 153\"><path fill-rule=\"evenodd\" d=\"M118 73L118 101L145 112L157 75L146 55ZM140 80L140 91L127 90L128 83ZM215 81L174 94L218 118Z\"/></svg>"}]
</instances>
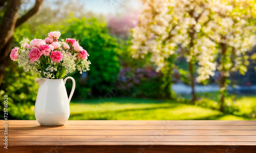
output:
<instances>
[{"instance_id":1,"label":"pink and white flower bouquet without the pitcher holding it","mask_svg":"<svg viewBox=\"0 0 256 153\"><path fill-rule=\"evenodd\" d=\"M29 41L24 38L20 48L12 49L10 58L17 60L25 72L40 73L42 78L63 79L76 69L80 73L88 71L91 62L87 51L73 38L58 41L60 35L60 32L54 31L44 40L35 38Z\"/></svg>"}]
</instances>

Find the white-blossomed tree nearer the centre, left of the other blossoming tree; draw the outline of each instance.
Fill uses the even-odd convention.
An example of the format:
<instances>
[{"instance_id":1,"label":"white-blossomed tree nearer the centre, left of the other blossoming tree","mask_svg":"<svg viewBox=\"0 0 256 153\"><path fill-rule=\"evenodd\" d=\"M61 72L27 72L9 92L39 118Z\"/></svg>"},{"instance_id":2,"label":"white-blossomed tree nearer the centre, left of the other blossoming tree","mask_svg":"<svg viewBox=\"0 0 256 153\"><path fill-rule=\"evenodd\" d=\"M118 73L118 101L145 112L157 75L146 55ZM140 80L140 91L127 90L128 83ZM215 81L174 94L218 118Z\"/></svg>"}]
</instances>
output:
<instances>
[{"instance_id":1,"label":"white-blossomed tree nearer the centre, left of the other blossoming tree","mask_svg":"<svg viewBox=\"0 0 256 153\"><path fill-rule=\"evenodd\" d=\"M215 64L212 63L212 53L216 52L215 43L202 35L201 28L208 22L210 16L209 1L171 1L147 0L140 15L140 24L133 30L133 57L144 58L150 54L151 61L157 71L173 68L173 57L176 50L183 50L188 62L192 103L196 100L194 64L199 61L199 82L214 75ZM179 46L179 47L178 47ZM170 77L170 76L167 76Z\"/></svg>"}]
</instances>

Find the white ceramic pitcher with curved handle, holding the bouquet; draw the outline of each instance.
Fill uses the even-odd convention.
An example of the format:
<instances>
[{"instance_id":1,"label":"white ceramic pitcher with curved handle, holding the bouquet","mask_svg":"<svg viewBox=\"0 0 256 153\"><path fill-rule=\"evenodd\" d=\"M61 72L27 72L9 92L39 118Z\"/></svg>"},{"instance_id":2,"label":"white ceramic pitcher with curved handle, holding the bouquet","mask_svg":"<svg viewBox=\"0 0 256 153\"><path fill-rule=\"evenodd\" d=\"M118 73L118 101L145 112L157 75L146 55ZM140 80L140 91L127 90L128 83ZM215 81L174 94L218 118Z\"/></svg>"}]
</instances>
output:
<instances>
[{"instance_id":1,"label":"white ceramic pitcher with curved handle, holding the bouquet","mask_svg":"<svg viewBox=\"0 0 256 153\"><path fill-rule=\"evenodd\" d=\"M67 79L73 82L69 98L65 87ZM75 80L72 77L64 80L41 78L35 82L39 85L35 102L35 118L38 123L45 126L65 124L70 115L69 104L75 90Z\"/></svg>"}]
</instances>

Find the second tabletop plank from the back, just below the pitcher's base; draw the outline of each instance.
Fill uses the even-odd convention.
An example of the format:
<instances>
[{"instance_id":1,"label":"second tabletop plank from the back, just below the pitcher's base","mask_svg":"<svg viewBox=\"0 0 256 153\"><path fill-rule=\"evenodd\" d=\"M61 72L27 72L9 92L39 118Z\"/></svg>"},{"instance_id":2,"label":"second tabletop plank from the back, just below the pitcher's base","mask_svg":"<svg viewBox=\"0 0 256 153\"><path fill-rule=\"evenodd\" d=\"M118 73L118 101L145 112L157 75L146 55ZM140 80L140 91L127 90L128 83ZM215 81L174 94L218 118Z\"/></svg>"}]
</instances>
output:
<instances>
[{"instance_id":1,"label":"second tabletop plank from the back, just below the pitcher's base","mask_svg":"<svg viewBox=\"0 0 256 153\"><path fill-rule=\"evenodd\" d=\"M256 125L9 125L9 130L255 130ZM4 126L0 126L4 130Z\"/></svg>"}]
</instances>

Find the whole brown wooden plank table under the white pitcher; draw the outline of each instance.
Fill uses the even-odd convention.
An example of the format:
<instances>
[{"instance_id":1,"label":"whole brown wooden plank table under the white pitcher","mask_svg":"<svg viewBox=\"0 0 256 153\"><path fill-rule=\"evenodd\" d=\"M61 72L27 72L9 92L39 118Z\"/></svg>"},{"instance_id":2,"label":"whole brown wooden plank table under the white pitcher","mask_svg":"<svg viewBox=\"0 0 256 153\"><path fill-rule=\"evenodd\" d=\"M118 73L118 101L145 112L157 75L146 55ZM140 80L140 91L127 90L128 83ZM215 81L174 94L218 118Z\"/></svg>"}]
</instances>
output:
<instances>
[{"instance_id":1,"label":"whole brown wooden plank table under the white pitcher","mask_svg":"<svg viewBox=\"0 0 256 153\"><path fill-rule=\"evenodd\" d=\"M0 152L256 152L256 121L4 120Z\"/></svg>"}]
</instances>

